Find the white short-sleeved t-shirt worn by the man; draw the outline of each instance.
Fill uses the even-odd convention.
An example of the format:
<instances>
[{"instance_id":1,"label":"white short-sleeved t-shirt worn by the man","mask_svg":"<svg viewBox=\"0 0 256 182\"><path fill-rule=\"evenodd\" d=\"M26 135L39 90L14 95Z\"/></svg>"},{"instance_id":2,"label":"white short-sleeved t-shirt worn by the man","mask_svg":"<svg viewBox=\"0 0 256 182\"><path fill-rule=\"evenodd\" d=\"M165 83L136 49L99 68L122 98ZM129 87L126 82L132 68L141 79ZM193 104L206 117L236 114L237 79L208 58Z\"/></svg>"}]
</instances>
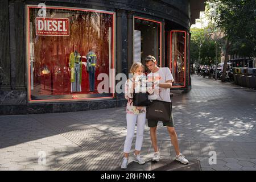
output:
<instances>
[{"instance_id":1,"label":"white short-sleeved t-shirt worn by the man","mask_svg":"<svg viewBox=\"0 0 256 182\"><path fill-rule=\"evenodd\" d=\"M150 77L153 78L154 80L159 80L159 83L165 83L168 80L171 80L172 82L174 82L174 77L172 77L172 73L169 68L159 68L157 72L155 73L151 72L150 74L148 74L148 78ZM158 89L160 91L160 94L158 92ZM160 88L160 87L158 88L158 85L157 85L155 86L154 90L156 90L156 92L148 96L148 99L171 102L169 88Z\"/></svg>"}]
</instances>

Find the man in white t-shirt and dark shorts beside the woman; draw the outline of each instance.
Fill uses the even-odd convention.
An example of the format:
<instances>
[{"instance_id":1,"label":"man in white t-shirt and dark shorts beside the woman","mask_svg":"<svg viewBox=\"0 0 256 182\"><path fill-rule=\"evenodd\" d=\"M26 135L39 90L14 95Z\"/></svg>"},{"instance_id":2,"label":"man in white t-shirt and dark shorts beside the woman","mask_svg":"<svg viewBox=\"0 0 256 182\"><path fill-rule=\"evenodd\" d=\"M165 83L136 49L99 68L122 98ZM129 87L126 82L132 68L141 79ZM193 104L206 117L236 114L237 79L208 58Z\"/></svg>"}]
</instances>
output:
<instances>
[{"instance_id":1,"label":"man in white t-shirt and dark shorts beside the woman","mask_svg":"<svg viewBox=\"0 0 256 182\"><path fill-rule=\"evenodd\" d=\"M149 96L152 100L162 100L166 102L171 102L170 98L170 88L172 87L172 82L174 82L174 78L172 77L171 71L169 68L159 68L156 63L156 59L154 56L147 56L145 59L147 68L151 71L150 74L148 74L148 78L158 78L158 85L154 85L155 87L155 94L152 94ZM156 79L155 79L156 80ZM157 91L159 88L159 92ZM148 119L148 127L150 127L150 137L152 146L154 147L155 154L152 158L152 161L158 162L160 159L160 153L158 150L158 144L156 139L156 127L158 125L158 121L150 120ZM175 160L178 160L179 162L183 164L188 164L188 160L185 159L185 157L181 154L179 143L177 140L177 134L174 129L174 119L172 117L172 114L170 115L170 121L163 122L163 126L167 126L168 133L171 137L172 145L174 146L174 149L176 151L176 157Z\"/></svg>"}]
</instances>

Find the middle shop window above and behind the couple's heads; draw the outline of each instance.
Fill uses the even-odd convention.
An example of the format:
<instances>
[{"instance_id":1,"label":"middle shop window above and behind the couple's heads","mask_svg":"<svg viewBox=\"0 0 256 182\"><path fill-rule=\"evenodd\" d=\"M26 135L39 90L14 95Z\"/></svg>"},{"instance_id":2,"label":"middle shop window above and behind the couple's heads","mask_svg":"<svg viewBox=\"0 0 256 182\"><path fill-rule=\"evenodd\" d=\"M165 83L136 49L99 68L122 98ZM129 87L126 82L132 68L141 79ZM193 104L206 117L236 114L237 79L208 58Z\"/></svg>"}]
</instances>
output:
<instances>
[{"instance_id":1,"label":"middle shop window above and behind the couple's heads","mask_svg":"<svg viewBox=\"0 0 256 182\"><path fill-rule=\"evenodd\" d=\"M161 22L134 17L134 61L141 61L148 55L155 56L161 65Z\"/></svg>"}]
</instances>

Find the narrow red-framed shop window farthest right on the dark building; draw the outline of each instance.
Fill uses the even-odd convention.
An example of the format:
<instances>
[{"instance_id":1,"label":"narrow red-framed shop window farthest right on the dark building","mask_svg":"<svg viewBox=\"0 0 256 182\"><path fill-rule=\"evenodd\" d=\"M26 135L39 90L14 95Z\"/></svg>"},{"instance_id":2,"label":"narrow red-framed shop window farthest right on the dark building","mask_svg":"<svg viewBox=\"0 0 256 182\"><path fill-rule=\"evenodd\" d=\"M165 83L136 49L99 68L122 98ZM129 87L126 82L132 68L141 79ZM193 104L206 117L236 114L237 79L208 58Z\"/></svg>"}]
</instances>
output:
<instances>
[{"instance_id":1,"label":"narrow red-framed shop window farthest right on the dark building","mask_svg":"<svg viewBox=\"0 0 256 182\"><path fill-rule=\"evenodd\" d=\"M170 69L174 76L174 87L185 86L186 38L185 31L171 31Z\"/></svg>"}]
</instances>

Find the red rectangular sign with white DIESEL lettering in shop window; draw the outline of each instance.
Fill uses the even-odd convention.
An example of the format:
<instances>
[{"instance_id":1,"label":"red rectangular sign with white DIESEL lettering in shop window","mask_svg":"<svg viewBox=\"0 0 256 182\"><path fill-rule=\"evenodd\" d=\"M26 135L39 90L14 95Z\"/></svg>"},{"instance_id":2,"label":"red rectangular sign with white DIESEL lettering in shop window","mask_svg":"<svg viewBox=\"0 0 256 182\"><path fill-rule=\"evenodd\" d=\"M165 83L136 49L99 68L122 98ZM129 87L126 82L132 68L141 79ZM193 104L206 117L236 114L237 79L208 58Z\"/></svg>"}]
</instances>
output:
<instances>
[{"instance_id":1,"label":"red rectangular sign with white DIESEL lettering in shop window","mask_svg":"<svg viewBox=\"0 0 256 182\"><path fill-rule=\"evenodd\" d=\"M36 35L69 36L69 19L36 17Z\"/></svg>"}]
</instances>

